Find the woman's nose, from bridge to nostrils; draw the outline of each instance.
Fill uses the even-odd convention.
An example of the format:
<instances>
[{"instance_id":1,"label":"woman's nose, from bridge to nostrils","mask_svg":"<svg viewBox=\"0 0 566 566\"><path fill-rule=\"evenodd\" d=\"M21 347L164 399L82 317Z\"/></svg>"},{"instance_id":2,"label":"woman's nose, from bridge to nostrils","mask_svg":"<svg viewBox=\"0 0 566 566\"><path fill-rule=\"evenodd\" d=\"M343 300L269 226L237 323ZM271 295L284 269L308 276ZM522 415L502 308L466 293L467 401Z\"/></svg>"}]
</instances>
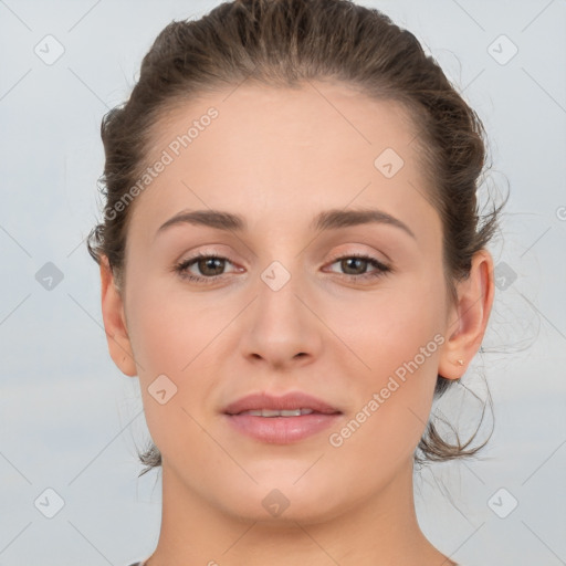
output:
<instances>
[{"instance_id":1,"label":"woman's nose, from bridge to nostrils","mask_svg":"<svg viewBox=\"0 0 566 566\"><path fill-rule=\"evenodd\" d=\"M316 359L324 325L313 291L304 277L277 262L262 273L242 321L240 347L250 361L286 370Z\"/></svg>"}]
</instances>

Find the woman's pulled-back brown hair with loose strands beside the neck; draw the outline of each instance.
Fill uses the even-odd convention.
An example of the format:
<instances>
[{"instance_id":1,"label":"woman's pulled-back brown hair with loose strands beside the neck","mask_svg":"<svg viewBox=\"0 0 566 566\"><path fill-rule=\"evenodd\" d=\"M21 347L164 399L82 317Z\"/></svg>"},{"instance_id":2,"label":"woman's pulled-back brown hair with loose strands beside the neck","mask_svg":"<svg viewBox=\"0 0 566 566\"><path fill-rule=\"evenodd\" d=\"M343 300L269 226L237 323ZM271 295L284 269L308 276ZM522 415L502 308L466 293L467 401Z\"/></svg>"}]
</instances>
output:
<instances>
[{"instance_id":1,"label":"woman's pulled-back brown hair with loose strands beside the neck","mask_svg":"<svg viewBox=\"0 0 566 566\"><path fill-rule=\"evenodd\" d=\"M482 122L412 33L350 0L234 0L199 20L172 21L159 33L129 99L109 111L101 126L106 202L87 248L97 263L101 255L108 259L118 289L133 207L117 203L147 167L153 128L165 112L243 81L300 87L326 78L407 108L430 185L427 198L442 221L448 298L457 298L454 283L469 275L472 256L492 238L504 205L479 214L476 189L486 154ZM439 375L434 397L453 384ZM416 461L475 454L489 440L469 448L479 428L465 443L458 433L450 443L429 421L418 446L424 458L417 451ZM154 444L139 458L148 465L142 473L161 463Z\"/></svg>"}]
</instances>

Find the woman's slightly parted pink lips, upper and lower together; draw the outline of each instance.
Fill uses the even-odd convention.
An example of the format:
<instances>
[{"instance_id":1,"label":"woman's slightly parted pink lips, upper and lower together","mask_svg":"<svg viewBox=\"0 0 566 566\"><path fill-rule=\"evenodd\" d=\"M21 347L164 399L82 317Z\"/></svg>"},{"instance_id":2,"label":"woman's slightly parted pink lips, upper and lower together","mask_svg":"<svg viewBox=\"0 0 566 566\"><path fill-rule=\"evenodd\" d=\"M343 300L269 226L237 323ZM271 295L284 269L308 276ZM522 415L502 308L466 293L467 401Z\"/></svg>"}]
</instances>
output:
<instances>
[{"instance_id":1,"label":"woman's slightly parted pink lips, upper and lower together","mask_svg":"<svg viewBox=\"0 0 566 566\"><path fill-rule=\"evenodd\" d=\"M239 415L242 411L273 409L312 409L300 417L258 417ZM336 423L342 411L325 401L303 392L274 397L265 392L242 397L226 407L224 417L238 432L260 442L289 444L316 434Z\"/></svg>"}]
</instances>

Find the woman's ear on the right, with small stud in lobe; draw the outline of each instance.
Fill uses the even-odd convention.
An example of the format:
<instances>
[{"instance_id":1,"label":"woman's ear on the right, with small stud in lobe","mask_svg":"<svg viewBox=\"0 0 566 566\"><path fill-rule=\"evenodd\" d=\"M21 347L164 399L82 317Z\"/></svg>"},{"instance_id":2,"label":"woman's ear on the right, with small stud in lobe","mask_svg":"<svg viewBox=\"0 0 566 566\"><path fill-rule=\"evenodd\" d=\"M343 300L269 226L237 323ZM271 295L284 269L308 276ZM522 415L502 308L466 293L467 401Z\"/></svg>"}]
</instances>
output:
<instances>
[{"instance_id":1,"label":"woman's ear on the right, with small stud in lobe","mask_svg":"<svg viewBox=\"0 0 566 566\"><path fill-rule=\"evenodd\" d=\"M480 349L488 327L493 296L493 259L482 249L472 258L468 279L457 285L458 302L450 310L446 338L438 373L447 379L463 376L473 356ZM459 364L463 361L463 365Z\"/></svg>"}]
</instances>

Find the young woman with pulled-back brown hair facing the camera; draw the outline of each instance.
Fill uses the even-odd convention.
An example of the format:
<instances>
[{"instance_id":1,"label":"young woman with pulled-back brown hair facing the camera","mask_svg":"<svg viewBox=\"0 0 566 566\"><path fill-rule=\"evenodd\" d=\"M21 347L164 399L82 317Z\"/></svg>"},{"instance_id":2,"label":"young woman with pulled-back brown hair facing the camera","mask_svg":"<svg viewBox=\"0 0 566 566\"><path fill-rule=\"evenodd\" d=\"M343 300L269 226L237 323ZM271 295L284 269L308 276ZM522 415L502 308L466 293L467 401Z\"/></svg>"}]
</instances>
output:
<instances>
[{"instance_id":1,"label":"young woman with pulled-back brown hair facing the camera","mask_svg":"<svg viewBox=\"0 0 566 566\"><path fill-rule=\"evenodd\" d=\"M416 38L346 0L172 22L102 125L111 356L163 468L145 566L455 564L422 534L428 423L494 294L483 127Z\"/></svg>"}]
</instances>

